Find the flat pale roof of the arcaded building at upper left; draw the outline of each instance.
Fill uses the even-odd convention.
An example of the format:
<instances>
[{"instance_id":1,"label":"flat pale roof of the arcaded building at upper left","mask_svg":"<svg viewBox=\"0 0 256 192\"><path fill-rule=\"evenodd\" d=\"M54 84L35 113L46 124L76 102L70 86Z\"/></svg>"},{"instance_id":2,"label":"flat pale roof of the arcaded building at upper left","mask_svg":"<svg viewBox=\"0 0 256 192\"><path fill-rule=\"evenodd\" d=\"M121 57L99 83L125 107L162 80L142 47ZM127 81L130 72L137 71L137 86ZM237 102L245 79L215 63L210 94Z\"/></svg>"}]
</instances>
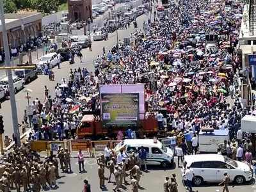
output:
<instances>
[{"instance_id":1,"label":"flat pale roof of the arcaded building at upper left","mask_svg":"<svg viewBox=\"0 0 256 192\"><path fill-rule=\"evenodd\" d=\"M7 13L4 14L6 29L19 28L20 26L26 26L42 19L41 13ZM2 31L2 24L0 20L0 31Z\"/></svg>"}]
</instances>

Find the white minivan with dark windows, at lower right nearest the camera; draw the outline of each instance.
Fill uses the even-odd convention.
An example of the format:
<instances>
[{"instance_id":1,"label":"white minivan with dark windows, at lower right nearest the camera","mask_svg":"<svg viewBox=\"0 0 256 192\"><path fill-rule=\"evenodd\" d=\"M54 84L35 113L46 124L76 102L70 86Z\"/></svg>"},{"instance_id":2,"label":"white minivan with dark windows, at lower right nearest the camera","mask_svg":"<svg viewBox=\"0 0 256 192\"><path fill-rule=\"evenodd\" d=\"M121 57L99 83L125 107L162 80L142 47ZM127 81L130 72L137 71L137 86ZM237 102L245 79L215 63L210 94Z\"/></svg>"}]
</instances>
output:
<instances>
[{"instance_id":1,"label":"white minivan with dark windows, at lower right nearest the camera","mask_svg":"<svg viewBox=\"0 0 256 192\"><path fill-rule=\"evenodd\" d=\"M195 173L193 184L196 186L204 182L220 182L223 180L225 172L228 173L230 180L237 184L250 181L253 176L253 172L248 164L217 154L185 156L184 161L187 163L186 166L190 166ZM181 171L184 173L184 167Z\"/></svg>"}]
</instances>

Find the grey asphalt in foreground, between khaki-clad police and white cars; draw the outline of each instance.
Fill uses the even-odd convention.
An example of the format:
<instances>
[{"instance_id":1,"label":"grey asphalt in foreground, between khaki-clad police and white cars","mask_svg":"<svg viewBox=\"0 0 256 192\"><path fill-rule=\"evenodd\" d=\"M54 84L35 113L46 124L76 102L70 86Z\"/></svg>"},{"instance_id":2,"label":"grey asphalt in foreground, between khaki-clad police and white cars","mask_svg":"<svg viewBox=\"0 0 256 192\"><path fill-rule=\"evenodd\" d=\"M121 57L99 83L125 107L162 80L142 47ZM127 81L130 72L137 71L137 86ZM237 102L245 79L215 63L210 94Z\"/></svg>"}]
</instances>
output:
<instances>
[{"instance_id":1,"label":"grey asphalt in foreground, between khaki-clad police and white cars","mask_svg":"<svg viewBox=\"0 0 256 192\"><path fill-rule=\"evenodd\" d=\"M61 173L61 179L58 179L58 186L59 188L54 190L56 192L63 192L63 191L82 191L83 189L83 180L88 179L93 192L100 192L102 191L99 188L99 178L97 173L97 163L96 159L86 159L85 163L85 170L86 173L79 173L78 172L78 165L77 159L72 159L72 170L74 173ZM172 175L175 173L177 175L177 183L178 183L178 190L179 191L186 191L184 186L182 185L180 169L173 166L170 169L162 169L159 166L150 166L148 168L147 173L143 173L141 177L140 185L141 189L139 191L145 192L156 192L156 191L163 191L163 180L166 176ZM109 176L109 171L105 171L105 177ZM114 177L112 176L111 181L114 181ZM127 181L130 184L131 181L127 177ZM108 180L105 182L106 189L104 191L113 191L113 183L108 183ZM124 186L121 191L131 191L131 186L127 184ZM206 184L205 186L201 186L199 188L193 188L193 191L198 190L198 192L216 192L219 189L221 191L221 187L218 184ZM241 191L248 191L248 192L256 192L256 186L253 184L244 184L242 186L230 186L231 192L241 192ZM52 190L53 191L53 190Z\"/></svg>"}]
</instances>

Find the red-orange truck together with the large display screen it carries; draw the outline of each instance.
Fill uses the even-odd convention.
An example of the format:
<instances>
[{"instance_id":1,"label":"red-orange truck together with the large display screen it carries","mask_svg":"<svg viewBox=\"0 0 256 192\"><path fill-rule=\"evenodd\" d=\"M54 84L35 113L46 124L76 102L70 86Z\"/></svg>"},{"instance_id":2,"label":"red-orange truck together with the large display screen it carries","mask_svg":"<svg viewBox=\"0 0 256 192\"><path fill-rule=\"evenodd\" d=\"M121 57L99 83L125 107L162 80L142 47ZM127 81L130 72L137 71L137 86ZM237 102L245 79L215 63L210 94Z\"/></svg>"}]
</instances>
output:
<instances>
[{"instance_id":1,"label":"red-orange truck together with the large display screen it carries","mask_svg":"<svg viewBox=\"0 0 256 192\"><path fill-rule=\"evenodd\" d=\"M138 136L158 131L156 116L145 111L144 84L100 85L100 116L84 115L77 139L116 139L118 131L132 129Z\"/></svg>"}]
</instances>

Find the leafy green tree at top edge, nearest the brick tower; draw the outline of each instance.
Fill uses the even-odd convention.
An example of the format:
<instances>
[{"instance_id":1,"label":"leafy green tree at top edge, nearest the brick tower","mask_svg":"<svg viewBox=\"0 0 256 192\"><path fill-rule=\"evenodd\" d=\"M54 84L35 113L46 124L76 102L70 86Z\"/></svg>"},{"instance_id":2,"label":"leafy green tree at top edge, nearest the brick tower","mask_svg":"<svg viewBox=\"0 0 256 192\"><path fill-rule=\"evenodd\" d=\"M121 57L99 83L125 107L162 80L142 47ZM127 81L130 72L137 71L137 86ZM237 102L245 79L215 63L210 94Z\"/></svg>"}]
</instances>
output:
<instances>
[{"instance_id":1,"label":"leafy green tree at top edge, nearest the brick tower","mask_svg":"<svg viewBox=\"0 0 256 192\"><path fill-rule=\"evenodd\" d=\"M58 0L31 0L31 8L45 14L50 14L52 11L57 12L58 6Z\"/></svg>"}]
</instances>

